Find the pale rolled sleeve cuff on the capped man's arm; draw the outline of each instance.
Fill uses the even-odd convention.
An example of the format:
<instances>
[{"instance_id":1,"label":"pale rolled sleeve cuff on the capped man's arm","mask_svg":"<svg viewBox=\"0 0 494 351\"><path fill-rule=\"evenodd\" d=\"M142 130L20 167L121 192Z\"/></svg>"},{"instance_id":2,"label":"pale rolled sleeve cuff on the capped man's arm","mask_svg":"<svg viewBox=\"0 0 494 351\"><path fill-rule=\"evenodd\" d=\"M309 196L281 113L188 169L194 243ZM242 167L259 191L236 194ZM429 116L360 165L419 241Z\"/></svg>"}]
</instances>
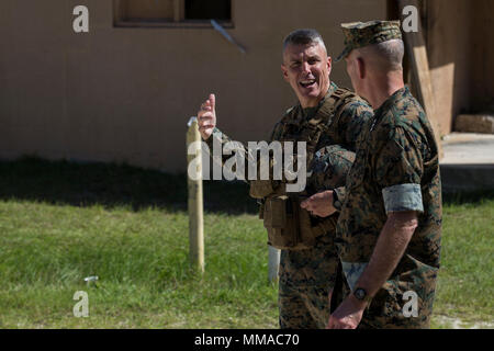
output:
<instances>
[{"instance_id":1,"label":"pale rolled sleeve cuff on the capped man's arm","mask_svg":"<svg viewBox=\"0 0 494 351\"><path fill-rule=\"evenodd\" d=\"M386 213L417 211L424 212L420 184L398 184L382 190Z\"/></svg>"}]
</instances>

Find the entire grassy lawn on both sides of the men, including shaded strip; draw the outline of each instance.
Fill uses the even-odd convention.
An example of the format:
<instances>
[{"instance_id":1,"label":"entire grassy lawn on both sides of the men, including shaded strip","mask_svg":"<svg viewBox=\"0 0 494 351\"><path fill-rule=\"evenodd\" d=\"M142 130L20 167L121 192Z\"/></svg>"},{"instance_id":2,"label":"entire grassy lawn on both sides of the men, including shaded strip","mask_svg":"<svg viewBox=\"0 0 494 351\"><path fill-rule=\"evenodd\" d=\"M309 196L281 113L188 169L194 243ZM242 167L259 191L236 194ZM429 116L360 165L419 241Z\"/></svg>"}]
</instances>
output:
<instances>
[{"instance_id":1,"label":"entire grassy lawn on both sides of the men, including shaded strip","mask_svg":"<svg viewBox=\"0 0 494 351\"><path fill-rule=\"evenodd\" d=\"M126 166L0 162L0 328L277 328L247 188L205 183L200 276L188 268L186 181ZM445 200L434 328L494 327L493 218L492 193ZM88 293L88 318L72 314L77 291Z\"/></svg>"}]
</instances>

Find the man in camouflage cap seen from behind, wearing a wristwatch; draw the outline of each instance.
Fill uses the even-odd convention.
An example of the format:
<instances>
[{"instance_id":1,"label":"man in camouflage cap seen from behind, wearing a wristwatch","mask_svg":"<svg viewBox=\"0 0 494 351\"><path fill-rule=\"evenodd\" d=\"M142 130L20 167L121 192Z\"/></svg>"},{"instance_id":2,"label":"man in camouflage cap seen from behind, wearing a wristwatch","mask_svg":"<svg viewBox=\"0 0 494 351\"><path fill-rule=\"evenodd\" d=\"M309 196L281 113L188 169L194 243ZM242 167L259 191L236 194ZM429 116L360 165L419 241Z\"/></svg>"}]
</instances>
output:
<instances>
[{"instance_id":1,"label":"man in camouflage cap seen from behind, wearing a wristwatch","mask_svg":"<svg viewBox=\"0 0 494 351\"><path fill-rule=\"evenodd\" d=\"M437 143L424 109L404 84L400 23L341 27L340 58L374 116L347 178L335 242L349 291L340 288L346 297L328 327L428 328L441 251ZM409 294L416 296L412 314Z\"/></svg>"}]
</instances>

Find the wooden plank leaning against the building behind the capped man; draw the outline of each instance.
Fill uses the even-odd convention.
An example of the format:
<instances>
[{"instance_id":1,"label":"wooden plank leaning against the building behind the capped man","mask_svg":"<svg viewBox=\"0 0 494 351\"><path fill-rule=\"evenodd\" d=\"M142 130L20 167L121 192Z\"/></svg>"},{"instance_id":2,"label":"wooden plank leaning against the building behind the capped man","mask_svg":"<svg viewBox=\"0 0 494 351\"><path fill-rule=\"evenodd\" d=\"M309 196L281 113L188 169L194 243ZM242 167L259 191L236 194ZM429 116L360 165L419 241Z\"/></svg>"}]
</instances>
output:
<instances>
[{"instance_id":1,"label":"wooden plank leaning against the building behind the capped man","mask_svg":"<svg viewBox=\"0 0 494 351\"><path fill-rule=\"evenodd\" d=\"M403 8L406 5L414 5L416 9L419 9L418 0L400 0L400 13L403 13ZM416 90L418 92L418 100L424 105L424 110L426 111L427 117L433 126L436 144L439 151L439 159L441 159L444 156L440 135L441 131L438 116L436 114L436 101L434 99L433 82L430 80L427 48L425 45L424 36L422 34L422 24L418 23L417 33L404 32L403 34L406 49L408 52L413 79L417 86Z\"/></svg>"}]
</instances>

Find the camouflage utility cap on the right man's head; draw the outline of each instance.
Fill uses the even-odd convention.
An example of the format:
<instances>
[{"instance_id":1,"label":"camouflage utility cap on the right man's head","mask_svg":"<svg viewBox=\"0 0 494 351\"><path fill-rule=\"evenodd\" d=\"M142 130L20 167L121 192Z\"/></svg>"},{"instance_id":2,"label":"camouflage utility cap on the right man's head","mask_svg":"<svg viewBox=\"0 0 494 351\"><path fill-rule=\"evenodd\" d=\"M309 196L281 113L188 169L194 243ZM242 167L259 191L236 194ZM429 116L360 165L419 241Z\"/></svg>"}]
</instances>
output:
<instances>
[{"instance_id":1,"label":"camouflage utility cap on the right man's head","mask_svg":"<svg viewBox=\"0 0 494 351\"><path fill-rule=\"evenodd\" d=\"M400 21L371 21L343 23L345 49L336 61L347 57L352 49L391 39L401 39Z\"/></svg>"}]
</instances>

